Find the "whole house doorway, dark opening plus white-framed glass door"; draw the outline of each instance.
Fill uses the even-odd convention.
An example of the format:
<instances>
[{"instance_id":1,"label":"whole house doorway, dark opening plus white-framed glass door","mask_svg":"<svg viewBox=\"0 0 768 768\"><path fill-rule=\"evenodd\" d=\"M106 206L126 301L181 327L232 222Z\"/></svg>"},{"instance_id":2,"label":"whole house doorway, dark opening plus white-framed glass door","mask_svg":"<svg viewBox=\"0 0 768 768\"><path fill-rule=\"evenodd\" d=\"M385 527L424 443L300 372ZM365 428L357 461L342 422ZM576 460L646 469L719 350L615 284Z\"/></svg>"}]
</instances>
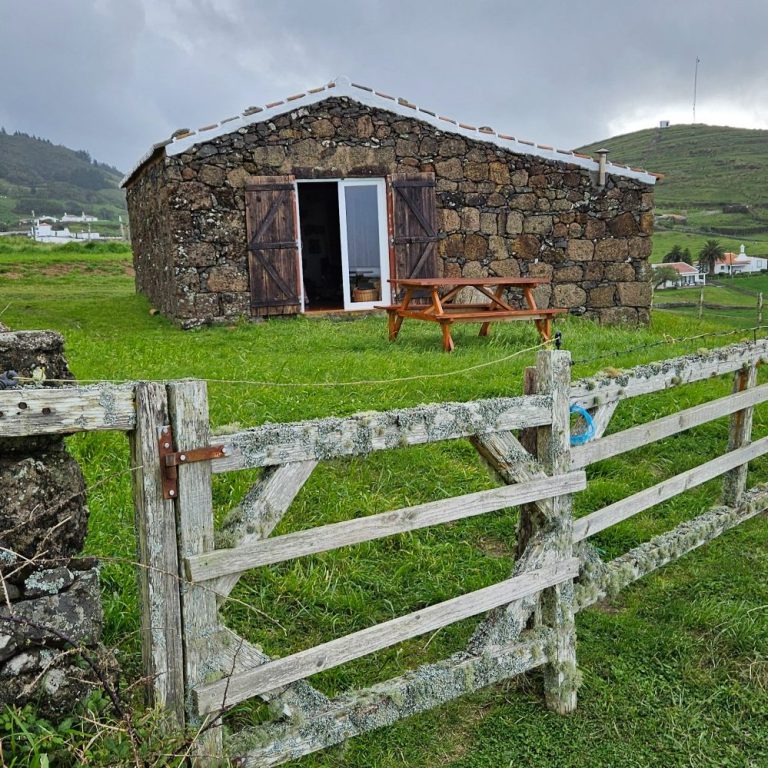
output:
<instances>
[{"instance_id":1,"label":"whole house doorway, dark opening plus white-framed glass door","mask_svg":"<svg viewBox=\"0 0 768 768\"><path fill-rule=\"evenodd\" d=\"M388 289L384 179L299 182L304 310L370 309Z\"/></svg>"}]
</instances>

